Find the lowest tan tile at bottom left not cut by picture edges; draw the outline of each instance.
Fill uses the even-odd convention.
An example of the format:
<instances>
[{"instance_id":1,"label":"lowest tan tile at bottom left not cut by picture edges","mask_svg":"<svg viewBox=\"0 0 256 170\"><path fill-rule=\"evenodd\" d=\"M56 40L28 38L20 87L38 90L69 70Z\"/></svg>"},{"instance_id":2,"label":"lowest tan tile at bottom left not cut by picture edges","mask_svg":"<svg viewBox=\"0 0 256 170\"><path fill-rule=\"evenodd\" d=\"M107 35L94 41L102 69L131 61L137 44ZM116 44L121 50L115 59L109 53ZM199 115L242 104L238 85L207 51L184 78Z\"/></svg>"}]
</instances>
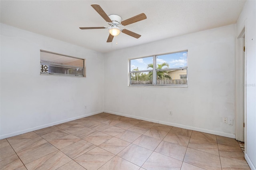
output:
<instances>
[{"instance_id":1,"label":"lowest tan tile at bottom left not cut by picture edges","mask_svg":"<svg viewBox=\"0 0 256 170\"><path fill-rule=\"evenodd\" d=\"M29 162L46 156L52 152L55 152L56 150L58 149L52 146L50 143L45 143L40 146L19 152L18 156L24 164L28 164Z\"/></svg>"}]
</instances>

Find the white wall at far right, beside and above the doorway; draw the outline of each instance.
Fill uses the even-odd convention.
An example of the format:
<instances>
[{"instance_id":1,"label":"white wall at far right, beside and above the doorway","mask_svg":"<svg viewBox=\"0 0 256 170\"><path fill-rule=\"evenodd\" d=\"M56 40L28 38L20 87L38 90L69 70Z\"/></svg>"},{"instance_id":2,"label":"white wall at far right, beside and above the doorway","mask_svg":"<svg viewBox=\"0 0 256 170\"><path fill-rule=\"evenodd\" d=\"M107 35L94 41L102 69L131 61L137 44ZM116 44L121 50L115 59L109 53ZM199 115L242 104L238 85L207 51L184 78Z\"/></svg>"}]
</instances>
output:
<instances>
[{"instance_id":1,"label":"white wall at far right, beside and above the doorway","mask_svg":"<svg viewBox=\"0 0 256 170\"><path fill-rule=\"evenodd\" d=\"M256 1L247 1L236 24L239 36L246 27L246 155L251 169L256 169Z\"/></svg>"}]
</instances>

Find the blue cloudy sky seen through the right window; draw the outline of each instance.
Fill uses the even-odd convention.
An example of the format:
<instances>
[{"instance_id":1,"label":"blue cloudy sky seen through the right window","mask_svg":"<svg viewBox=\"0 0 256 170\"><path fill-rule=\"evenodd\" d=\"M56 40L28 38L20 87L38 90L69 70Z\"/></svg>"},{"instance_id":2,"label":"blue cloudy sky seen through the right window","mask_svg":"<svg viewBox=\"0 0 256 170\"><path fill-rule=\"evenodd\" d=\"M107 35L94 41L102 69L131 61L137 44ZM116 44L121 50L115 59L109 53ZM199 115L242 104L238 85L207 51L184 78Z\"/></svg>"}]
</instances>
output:
<instances>
[{"instance_id":1,"label":"blue cloudy sky seen through the right window","mask_svg":"<svg viewBox=\"0 0 256 170\"><path fill-rule=\"evenodd\" d=\"M168 63L169 68L179 68L179 67L186 67L187 66L187 51L181 51L178 53L171 53L165 55L157 55L156 63ZM144 57L139 59L131 59L131 71L133 69L139 70L148 70L152 68L147 68L148 64L153 63L153 57ZM166 68L166 67L163 67Z\"/></svg>"}]
</instances>

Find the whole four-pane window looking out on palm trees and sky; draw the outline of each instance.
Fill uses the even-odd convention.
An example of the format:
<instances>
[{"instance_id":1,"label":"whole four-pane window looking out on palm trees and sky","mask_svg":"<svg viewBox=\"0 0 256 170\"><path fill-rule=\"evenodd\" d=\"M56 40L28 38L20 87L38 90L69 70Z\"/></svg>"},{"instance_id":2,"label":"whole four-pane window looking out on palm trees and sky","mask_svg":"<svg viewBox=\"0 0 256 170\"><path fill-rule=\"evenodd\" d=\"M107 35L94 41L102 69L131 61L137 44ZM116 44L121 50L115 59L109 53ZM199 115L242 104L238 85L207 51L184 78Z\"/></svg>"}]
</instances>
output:
<instances>
[{"instance_id":1,"label":"whole four-pane window looking out on palm trees and sky","mask_svg":"<svg viewBox=\"0 0 256 170\"><path fill-rule=\"evenodd\" d=\"M130 86L187 87L188 51L130 59Z\"/></svg>"}]
</instances>

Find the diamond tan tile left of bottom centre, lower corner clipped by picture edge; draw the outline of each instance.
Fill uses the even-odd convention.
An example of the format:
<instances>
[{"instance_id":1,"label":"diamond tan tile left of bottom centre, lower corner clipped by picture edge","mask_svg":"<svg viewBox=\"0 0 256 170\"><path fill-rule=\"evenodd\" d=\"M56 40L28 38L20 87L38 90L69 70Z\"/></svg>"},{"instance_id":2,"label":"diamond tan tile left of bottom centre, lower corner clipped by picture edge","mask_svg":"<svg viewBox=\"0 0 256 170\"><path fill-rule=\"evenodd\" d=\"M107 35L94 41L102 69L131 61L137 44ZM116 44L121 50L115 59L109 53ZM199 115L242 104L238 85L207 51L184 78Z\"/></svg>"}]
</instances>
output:
<instances>
[{"instance_id":1,"label":"diamond tan tile left of bottom centre, lower corner clipped by picture edge","mask_svg":"<svg viewBox=\"0 0 256 170\"><path fill-rule=\"evenodd\" d=\"M102 148L95 147L76 158L75 161L87 170L97 170L114 156L114 154Z\"/></svg>"}]
</instances>

